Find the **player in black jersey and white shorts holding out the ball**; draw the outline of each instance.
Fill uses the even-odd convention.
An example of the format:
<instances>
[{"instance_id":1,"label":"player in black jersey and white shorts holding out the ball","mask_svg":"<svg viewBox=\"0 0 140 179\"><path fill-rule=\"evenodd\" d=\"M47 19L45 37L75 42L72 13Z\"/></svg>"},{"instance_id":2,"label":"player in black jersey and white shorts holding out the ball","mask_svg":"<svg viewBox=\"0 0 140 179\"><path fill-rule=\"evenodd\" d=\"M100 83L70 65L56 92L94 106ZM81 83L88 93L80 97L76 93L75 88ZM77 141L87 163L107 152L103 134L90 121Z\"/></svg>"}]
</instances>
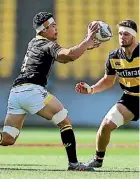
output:
<instances>
[{"instance_id":1,"label":"player in black jersey and white shorts holding out the ball","mask_svg":"<svg viewBox=\"0 0 140 179\"><path fill-rule=\"evenodd\" d=\"M74 61L87 49L100 45L100 42L94 39L94 34L100 27L98 23L90 25L86 38L68 49L57 43L57 26L51 13L36 14L33 18L33 27L36 30L36 37L29 42L20 74L13 83L3 132L0 133L0 145L15 143L27 112L38 114L60 128L69 161L68 170L93 170L78 162L75 136L68 111L44 87L55 61Z\"/></svg>"}]
</instances>

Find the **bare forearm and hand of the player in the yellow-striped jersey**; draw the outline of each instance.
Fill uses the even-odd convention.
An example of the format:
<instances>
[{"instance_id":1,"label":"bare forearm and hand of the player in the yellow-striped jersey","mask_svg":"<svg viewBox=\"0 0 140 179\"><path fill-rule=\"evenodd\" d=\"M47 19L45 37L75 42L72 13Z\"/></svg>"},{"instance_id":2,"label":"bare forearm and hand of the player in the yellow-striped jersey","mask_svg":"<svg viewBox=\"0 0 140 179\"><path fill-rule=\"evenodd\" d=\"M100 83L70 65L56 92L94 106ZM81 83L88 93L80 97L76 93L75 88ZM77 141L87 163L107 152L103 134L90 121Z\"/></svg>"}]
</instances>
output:
<instances>
[{"instance_id":1,"label":"bare forearm and hand of the player in the yellow-striped jersey","mask_svg":"<svg viewBox=\"0 0 140 179\"><path fill-rule=\"evenodd\" d=\"M75 90L78 93L82 94L94 94L102 92L108 88L111 88L116 80L116 75L104 75L95 85L88 85L85 82L77 83L75 86Z\"/></svg>"}]
</instances>

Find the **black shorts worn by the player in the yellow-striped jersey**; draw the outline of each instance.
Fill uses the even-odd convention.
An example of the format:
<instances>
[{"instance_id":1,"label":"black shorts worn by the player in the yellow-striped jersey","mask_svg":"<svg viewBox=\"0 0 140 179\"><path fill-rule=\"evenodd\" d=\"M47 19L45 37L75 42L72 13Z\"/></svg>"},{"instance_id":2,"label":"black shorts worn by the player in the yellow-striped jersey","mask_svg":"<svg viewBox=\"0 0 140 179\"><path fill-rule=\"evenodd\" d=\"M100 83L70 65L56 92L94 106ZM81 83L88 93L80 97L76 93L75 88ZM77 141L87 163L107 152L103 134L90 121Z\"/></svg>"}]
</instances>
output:
<instances>
[{"instance_id":1,"label":"black shorts worn by the player in the yellow-striped jersey","mask_svg":"<svg viewBox=\"0 0 140 179\"><path fill-rule=\"evenodd\" d=\"M117 103L123 104L129 111L134 114L132 121L137 121L139 119L139 97L131 96L128 94L123 94L121 99Z\"/></svg>"}]
</instances>

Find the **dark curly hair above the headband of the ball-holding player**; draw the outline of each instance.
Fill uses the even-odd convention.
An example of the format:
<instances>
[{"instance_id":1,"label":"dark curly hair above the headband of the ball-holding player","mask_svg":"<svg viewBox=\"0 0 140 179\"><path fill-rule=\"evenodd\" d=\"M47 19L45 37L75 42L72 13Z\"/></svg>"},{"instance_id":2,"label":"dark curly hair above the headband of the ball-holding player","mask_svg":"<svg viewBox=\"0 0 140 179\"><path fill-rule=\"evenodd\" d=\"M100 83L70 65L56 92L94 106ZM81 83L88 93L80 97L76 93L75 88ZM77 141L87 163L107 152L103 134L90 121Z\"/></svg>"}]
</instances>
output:
<instances>
[{"instance_id":1,"label":"dark curly hair above the headband of the ball-holding player","mask_svg":"<svg viewBox=\"0 0 140 179\"><path fill-rule=\"evenodd\" d=\"M42 25L45 21L53 17L52 13L49 12L39 12L33 18L33 28L37 29L40 25Z\"/></svg>"}]
</instances>

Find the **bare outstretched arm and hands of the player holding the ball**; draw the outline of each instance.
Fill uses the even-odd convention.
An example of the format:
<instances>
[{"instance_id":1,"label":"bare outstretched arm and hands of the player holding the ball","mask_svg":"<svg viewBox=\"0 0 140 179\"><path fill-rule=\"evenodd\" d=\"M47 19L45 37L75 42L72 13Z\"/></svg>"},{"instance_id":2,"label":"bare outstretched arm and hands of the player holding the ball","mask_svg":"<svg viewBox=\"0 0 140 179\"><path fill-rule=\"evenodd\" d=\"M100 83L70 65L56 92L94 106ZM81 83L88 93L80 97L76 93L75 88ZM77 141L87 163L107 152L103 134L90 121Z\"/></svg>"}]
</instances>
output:
<instances>
[{"instance_id":1,"label":"bare outstretched arm and hands of the player holding the ball","mask_svg":"<svg viewBox=\"0 0 140 179\"><path fill-rule=\"evenodd\" d=\"M78 59L91 46L94 48L100 45L100 42L94 39L95 33L99 30L98 23L88 27L88 34L86 38L78 45L69 49L63 48L59 51L57 61L60 63L68 63Z\"/></svg>"}]
</instances>

